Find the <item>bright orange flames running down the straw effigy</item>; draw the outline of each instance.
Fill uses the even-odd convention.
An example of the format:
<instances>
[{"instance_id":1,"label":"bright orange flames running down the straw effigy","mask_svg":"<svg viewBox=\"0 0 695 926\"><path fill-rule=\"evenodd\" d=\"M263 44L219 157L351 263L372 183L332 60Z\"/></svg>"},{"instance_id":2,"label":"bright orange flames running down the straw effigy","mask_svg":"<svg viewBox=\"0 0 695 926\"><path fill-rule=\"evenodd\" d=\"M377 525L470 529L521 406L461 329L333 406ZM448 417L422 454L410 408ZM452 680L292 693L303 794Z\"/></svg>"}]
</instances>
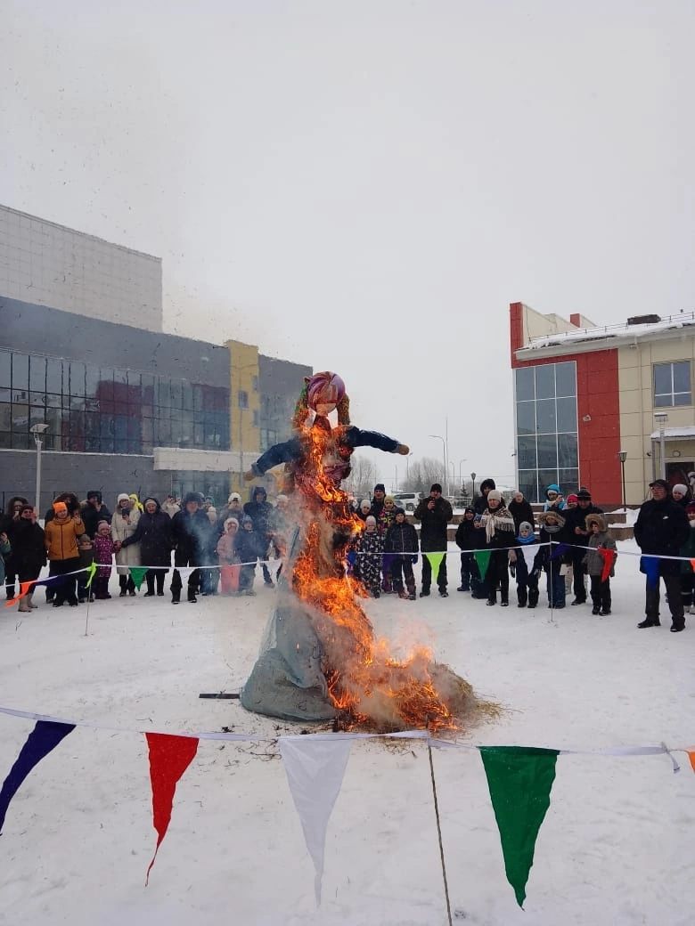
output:
<instances>
[{"instance_id":1,"label":"bright orange flames running down the straw effigy","mask_svg":"<svg viewBox=\"0 0 695 926\"><path fill-rule=\"evenodd\" d=\"M363 587L345 575L346 546L363 524L332 478L332 467L340 465L335 431L305 429L310 465L297 488L306 500L308 523L292 576L322 643L331 700L347 726L455 730L458 716L474 699L471 686L438 665L424 646L405 659L392 657L389 642L376 639L360 607L357 594L365 594Z\"/></svg>"}]
</instances>

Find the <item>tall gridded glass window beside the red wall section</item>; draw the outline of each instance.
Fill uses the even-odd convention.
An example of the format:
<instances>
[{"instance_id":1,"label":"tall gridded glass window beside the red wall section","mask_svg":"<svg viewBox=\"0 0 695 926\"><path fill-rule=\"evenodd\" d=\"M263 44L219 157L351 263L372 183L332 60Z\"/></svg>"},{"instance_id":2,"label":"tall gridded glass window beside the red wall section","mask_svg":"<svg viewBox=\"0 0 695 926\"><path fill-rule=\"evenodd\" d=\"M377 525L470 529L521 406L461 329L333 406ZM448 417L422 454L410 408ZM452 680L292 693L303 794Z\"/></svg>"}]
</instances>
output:
<instances>
[{"instance_id":1,"label":"tall gridded glass window beside the red wall section","mask_svg":"<svg viewBox=\"0 0 695 926\"><path fill-rule=\"evenodd\" d=\"M519 488L532 502L558 482L565 493L579 482L576 365L546 363L515 371L516 462Z\"/></svg>"}]
</instances>

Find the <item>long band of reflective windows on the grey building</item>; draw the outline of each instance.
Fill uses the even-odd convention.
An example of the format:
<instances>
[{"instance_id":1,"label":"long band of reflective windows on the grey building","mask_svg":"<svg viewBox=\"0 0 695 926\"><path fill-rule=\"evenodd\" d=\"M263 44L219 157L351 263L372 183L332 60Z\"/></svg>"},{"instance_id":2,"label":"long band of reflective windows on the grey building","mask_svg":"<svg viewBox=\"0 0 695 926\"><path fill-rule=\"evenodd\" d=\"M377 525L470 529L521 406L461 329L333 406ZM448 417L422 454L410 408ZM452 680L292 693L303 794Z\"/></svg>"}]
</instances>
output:
<instances>
[{"instance_id":1,"label":"long band of reflective windows on the grey building","mask_svg":"<svg viewBox=\"0 0 695 926\"><path fill-rule=\"evenodd\" d=\"M0 349L0 447L150 454L153 446L229 449L229 390Z\"/></svg>"}]
</instances>

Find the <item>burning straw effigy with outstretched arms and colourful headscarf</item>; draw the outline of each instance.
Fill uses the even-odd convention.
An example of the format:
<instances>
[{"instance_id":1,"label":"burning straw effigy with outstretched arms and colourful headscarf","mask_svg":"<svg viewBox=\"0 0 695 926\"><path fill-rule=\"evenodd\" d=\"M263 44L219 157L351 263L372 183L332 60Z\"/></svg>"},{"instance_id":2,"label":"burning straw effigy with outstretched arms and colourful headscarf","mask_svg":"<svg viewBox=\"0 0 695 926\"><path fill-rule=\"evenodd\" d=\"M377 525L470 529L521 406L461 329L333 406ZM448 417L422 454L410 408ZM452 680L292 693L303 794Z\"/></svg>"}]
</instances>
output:
<instances>
[{"instance_id":1,"label":"burning straw effigy with outstretched arms and colourful headscarf","mask_svg":"<svg viewBox=\"0 0 695 926\"><path fill-rule=\"evenodd\" d=\"M455 730L481 711L489 713L492 706L436 663L427 647L393 657L360 606L363 587L347 574L347 547L364 526L341 488L350 457L360 446L400 454L409 448L352 425L345 384L331 372L305 382L293 430L289 441L272 446L246 473L250 480L284 464L295 528L242 705L283 720L335 720L347 729L382 731Z\"/></svg>"}]
</instances>

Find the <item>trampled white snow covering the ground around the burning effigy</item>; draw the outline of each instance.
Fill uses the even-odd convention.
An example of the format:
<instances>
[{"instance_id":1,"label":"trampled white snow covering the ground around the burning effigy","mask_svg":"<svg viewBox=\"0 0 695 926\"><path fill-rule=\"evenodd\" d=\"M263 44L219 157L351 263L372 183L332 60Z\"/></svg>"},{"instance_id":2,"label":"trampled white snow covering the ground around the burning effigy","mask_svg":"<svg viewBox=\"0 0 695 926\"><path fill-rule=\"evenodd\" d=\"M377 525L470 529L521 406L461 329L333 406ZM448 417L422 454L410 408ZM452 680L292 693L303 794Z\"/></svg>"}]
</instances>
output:
<instances>
[{"instance_id":1,"label":"trampled white snow covering the ground around the burning effigy","mask_svg":"<svg viewBox=\"0 0 695 926\"><path fill-rule=\"evenodd\" d=\"M619 544L623 554L632 542ZM458 573L449 557L449 579ZM479 692L509 709L461 736L488 745L594 749L688 746L695 626L635 627L638 558L618 559L613 615L486 607L455 591L366 607L379 632L427 639ZM115 585L115 580L112 586ZM257 584L258 587L258 584ZM512 585L513 589L513 585ZM113 587L112 587L113 593ZM244 682L273 592L256 598L120 599L0 617L0 704L108 727L276 736L236 702L200 700ZM41 594L37 597L41 603ZM541 603L544 601L541 597ZM665 607L662 608L664 618ZM278 724L279 732L297 727ZM32 721L0 716L0 772ZM525 912L505 880L482 763L474 751L434 757L455 921L478 924L668 924L692 921L695 775L686 756L559 757L537 840ZM144 737L78 728L44 759L9 808L1 845L0 920L13 926L446 923L426 749L352 746L329 824L323 905L271 744L201 741L180 782L169 833L154 851ZM6 919L3 919L3 918Z\"/></svg>"}]
</instances>

